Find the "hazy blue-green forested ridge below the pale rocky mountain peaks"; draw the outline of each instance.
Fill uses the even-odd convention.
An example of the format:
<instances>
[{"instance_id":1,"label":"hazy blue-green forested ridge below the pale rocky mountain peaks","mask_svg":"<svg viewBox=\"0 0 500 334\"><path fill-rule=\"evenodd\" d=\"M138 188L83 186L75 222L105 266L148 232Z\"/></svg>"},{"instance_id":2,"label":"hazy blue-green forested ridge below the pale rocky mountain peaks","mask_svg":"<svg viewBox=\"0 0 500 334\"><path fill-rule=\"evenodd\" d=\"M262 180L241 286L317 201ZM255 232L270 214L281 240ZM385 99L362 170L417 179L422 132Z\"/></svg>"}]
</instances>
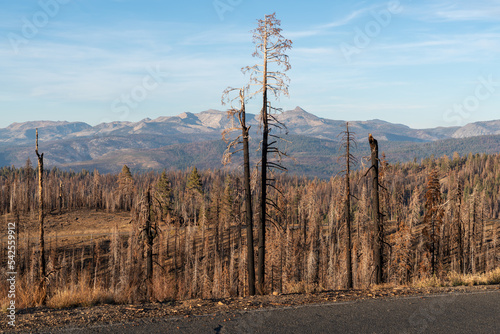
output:
<instances>
[{"instance_id":1,"label":"hazy blue-green forested ridge below the pale rocky mountain peaks","mask_svg":"<svg viewBox=\"0 0 500 334\"><path fill-rule=\"evenodd\" d=\"M339 132L341 128L339 127ZM150 170L161 171L163 168L168 169L186 169L190 166L197 165L203 169L221 169L220 156L224 152L225 145L221 139L205 140L195 143L176 143L182 138L170 138L170 144L159 143L159 148L148 148L147 144L153 142L150 136L134 135L128 138L114 138L114 140L96 142L93 140L82 139L80 141L60 141L46 142L44 147L47 151L46 164L49 168L54 166L69 171L70 169L80 171L82 169L94 170L97 168L101 173L117 173L124 164L127 164L135 171L147 172ZM318 139L303 135L289 134L284 138L287 139L287 151L290 156L296 161L287 161L287 168L290 174L307 175L311 177L329 178L332 174L341 170L341 167L336 162L338 155L339 143L338 138L333 136L329 139ZM365 138L357 133L356 138L362 142ZM106 153L103 156L99 155L98 147L107 147L115 145L115 142L120 140L133 140L140 145L144 142L144 148L120 150L117 144L115 151ZM158 141L160 141L158 139ZM471 138L444 139L435 142L415 143L405 141L380 141L381 151L384 151L387 160L396 162L408 162L417 159L441 157L448 155L451 157L454 152L460 155L467 155L469 152L495 154L500 147L500 136L478 136ZM97 147L97 148L96 148ZM250 142L251 158L255 162L256 150L258 144L255 141ZM207 152L211 154L206 154ZM361 158L369 155L369 147L360 145L358 149L353 148L353 153ZM26 161L26 157L30 156L35 159L32 145L22 147L4 148L0 153L0 165L10 166L15 164L16 167L21 167ZM94 159L92 159L94 157ZM333 158L332 158L333 157ZM236 168L229 166L228 168Z\"/></svg>"}]
</instances>

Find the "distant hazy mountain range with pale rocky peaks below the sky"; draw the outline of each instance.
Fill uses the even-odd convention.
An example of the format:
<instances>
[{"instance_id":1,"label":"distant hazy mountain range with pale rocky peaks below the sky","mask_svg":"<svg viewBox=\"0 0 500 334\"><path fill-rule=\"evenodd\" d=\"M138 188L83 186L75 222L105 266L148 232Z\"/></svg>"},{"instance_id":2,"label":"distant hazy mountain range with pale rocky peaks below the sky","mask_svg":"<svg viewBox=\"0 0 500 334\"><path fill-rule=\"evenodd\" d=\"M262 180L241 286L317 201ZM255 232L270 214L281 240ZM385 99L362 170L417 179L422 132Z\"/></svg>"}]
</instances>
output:
<instances>
[{"instance_id":1,"label":"distant hazy mountain range with pale rocky peaks below the sky","mask_svg":"<svg viewBox=\"0 0 500 334\"><path fill-rule=\"evenodd\" d=\"M295 161L294 173L327 177L335 172L339 138L345 121L320 118L300 107L278 116L288 128L285 145ZM0 165L23 166L34 154L35 129L46 164L61 168L116 172L124 164L135 170L163 168L222 168L225 144L221 132L231 126L226 113L207 110L178 116L112 122L96 126L82 122L33 121L0 129ZM247 115L252 126L253 147L258 145L258 117ZM368 154L367 136L380 142L389 161L424 158L431 154L493 153L500 149L500 120L471 123L463 127L412 129L381 120L349 122L359 142L357 154ZM478 140L482 136L482 140ZM254 150L254 151L255 151ZM257 159L255 154L254 159ZM238 159L235 159L235 164Z\"/></svg>"}]
</instances>

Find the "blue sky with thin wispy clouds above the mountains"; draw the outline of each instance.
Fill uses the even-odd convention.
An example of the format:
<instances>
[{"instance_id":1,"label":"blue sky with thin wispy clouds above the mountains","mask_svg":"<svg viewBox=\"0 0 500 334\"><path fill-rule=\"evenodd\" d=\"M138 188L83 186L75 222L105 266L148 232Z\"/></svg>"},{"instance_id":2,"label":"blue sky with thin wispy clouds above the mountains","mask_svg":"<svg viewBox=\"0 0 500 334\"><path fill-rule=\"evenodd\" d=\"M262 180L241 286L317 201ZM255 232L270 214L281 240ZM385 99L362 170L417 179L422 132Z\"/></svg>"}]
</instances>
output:
<instances>
[{"instance_id":1,"label":"blue sky with thin wispy clouds above the mountains","mask_svg":"<svg viewBox=\"0 0 500 334\"><path fill-rule=\"evenodd\" d=\"M276 12L290 97L320 117L414 128L500 119L500 0L0 0L0 127L223 110ZM255 104L248 111L257 113Z\"/></svg>"}]
</instances>

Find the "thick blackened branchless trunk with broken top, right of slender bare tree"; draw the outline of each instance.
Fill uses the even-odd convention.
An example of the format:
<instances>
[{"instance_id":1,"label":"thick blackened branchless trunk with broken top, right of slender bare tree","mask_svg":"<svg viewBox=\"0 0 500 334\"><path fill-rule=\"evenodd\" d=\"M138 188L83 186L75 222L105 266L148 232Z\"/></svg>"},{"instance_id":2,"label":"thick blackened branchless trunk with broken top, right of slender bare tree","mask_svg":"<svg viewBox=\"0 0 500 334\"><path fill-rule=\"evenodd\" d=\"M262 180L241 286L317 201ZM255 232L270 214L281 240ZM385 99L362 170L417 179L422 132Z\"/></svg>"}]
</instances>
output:
<instances>
[{"instance_id":1,"label":"thick blackened branchless trunk with broken top, right of slender bare tree","mask_svg":"<svg viewBox=\"0 0 500 334\"><path fill-rule=\"evenodd\" d=\"M379 202L379 181L378 181L378 142L371 134L368 135L371 151L371 170L372 170L372 217L375 227L375 242L373 249L373 261L375 265L375 284L382 283L383 279L383 237L384 227L382 226L382 215L380 213Z\"/></svg>"}]
</instances>

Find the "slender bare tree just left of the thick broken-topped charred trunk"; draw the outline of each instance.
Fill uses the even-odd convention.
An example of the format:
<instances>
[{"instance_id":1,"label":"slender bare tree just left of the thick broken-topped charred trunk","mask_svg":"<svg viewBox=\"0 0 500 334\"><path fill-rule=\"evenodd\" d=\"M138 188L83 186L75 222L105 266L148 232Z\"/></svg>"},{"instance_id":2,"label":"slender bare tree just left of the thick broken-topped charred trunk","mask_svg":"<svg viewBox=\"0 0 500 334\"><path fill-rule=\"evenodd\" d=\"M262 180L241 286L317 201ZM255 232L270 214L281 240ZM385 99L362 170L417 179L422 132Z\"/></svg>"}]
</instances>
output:
<instances>
[{"instance_id":1,"label":"slender bare tree just left of the thick broken-topped charred trunk","mask_svg":"<svg viewBox=\"0 0 500 334\"><path fill-rule=\"evenodd\" d=\"M351 167L357 163L356 157L351 153L351 145L357 145L354 139L354 133L349 131L349 123L346 122L346 130L340 133L342 135L341 150L345 150L339 158L345 161L345 194L344 194L344 218L345 218L345 248L346 248L346 269L347 269L347 288L352 289L352 235L351 235L351 188L350 173Z\"/></svg>"}]
</instances>

